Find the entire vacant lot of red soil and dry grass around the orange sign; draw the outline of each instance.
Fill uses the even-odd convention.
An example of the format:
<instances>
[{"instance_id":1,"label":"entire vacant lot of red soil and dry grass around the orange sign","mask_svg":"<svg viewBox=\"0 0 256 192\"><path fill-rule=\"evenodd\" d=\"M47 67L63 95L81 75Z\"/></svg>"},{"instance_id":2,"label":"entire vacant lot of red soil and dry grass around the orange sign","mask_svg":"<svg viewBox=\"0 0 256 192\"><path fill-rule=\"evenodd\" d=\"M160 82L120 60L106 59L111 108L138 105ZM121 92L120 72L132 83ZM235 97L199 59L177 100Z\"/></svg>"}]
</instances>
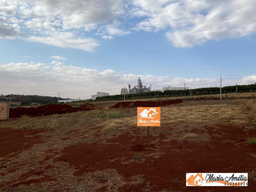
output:
<instances>
[{"instance_id":1,"label":"entire vacant lot of red soil and dry grass around the orange sign","mask_svg":"<svg viewBox=\"0 0 256 192\"><path fill-rule=\"evenodd\" d=\"M136 108L0 122L0 190L254 191L255 103L184 100L161 107L149 149ZM248 172L249 187L186 187L186 172Z\"/></svg>"}]
</instances>

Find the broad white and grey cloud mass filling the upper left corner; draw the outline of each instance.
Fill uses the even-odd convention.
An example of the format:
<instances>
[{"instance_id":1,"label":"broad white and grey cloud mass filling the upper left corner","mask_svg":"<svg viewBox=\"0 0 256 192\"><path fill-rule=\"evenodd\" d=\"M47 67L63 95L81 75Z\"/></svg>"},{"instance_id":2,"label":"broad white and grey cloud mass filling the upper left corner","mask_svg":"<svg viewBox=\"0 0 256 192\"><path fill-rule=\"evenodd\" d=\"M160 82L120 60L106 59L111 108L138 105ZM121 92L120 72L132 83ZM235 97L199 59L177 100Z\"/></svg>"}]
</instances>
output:
<instances>
[{"instance_id":1,"label":"broad white and grey cloud mass filling the upper left corner","mask_svg":"<svg viewBox=\"0 0 256 192\"><path fill-rule=\"evenodd\" d=\"M99 43L86 32L122 19L123 5L123 0L2 0L0 16L14 24L0 21L0 38L19 37L19 23L25 40L92 52Z\"/></svg>"}]
</instances>

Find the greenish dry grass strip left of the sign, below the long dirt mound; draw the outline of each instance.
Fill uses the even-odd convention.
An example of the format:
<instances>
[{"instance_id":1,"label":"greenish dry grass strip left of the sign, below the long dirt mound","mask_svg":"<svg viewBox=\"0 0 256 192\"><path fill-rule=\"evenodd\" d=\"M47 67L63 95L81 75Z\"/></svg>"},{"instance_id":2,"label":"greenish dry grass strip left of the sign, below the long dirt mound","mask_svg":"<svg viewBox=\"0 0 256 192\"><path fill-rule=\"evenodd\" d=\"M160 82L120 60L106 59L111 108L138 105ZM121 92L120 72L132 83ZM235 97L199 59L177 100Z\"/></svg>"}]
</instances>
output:
<instances>
[{"instance_id":1,"label":"greenish dry grass strip left of the sign, below the long dirt mound","mask_svg":"<svg viewBox=\"0 0 256 192\"><path fill-rule=\"evenodd\" d=\"M109 119L135 116L136 110L125 109L100 109L91 111L78 111L61 115L49 115L39 117L22 116L14 121L0 122L1 127L13 127L15 129L56 129L73 125L96 125Z\"/></svg>"}]
</instances>

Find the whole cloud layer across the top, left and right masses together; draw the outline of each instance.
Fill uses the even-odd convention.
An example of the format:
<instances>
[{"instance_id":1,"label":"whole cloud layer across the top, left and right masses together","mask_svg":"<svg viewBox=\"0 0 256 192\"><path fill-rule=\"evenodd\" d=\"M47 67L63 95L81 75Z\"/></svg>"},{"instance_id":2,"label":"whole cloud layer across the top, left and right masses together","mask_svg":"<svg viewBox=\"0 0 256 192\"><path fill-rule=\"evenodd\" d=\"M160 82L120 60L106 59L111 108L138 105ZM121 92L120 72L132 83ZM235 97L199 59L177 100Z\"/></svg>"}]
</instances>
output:
<instances>
[{"instance_id":1,"label":"whole cloud layer across the top, left and right masses together","mask_svg":"<svg viewBox=\"0 0 256 192\"><path fill-rule=\"evenodd\" d=\"M254 35L255 12L255 0L1 0L0 38L94 51L99 36L162 30L175 47L192 47Z\"/></svg>"}]
</instances>

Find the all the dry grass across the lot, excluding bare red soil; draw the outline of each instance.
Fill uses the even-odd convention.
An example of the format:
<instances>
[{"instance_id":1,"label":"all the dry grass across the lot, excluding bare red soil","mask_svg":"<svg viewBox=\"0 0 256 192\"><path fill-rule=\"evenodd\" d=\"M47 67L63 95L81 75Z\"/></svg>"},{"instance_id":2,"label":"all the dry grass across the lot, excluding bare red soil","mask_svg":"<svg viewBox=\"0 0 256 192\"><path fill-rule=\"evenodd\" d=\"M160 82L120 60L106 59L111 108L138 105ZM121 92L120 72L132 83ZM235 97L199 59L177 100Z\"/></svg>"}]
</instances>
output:
<instances>
[{"instance_id":1,"label":"all the dry grass across the lot, excluding bare red soil","mask_svg":"<svg viewBox=\"0 0 256 192\"><path fill-rule=\"evenodd\" d=\"M208 102L208 103L207 103ZM151 128L152 143L162 139L166 143L171 140L197 142L205 144L210 136L205 125L214 124L253 124L255 100L237 100L233 103L210 101L188 101L179 105L161 108L161 127ZM236 104L235 104L236 102ZM252 103L251 103L252 102ZM0 122L1 127L15 129L49 129L40 133L44 143L21 150L17 156L10 154L0 159L0 184L5 183L5 191L121 191L124 186L146 185L143 175L123 178L116 170L106 169L88 172L82 176L74 176L76 169L64 162L54 162L61 156L63 148L76 143L105 143L106 139L130 132L138 138L145 136L147 129L136 126L136 108L107 109L81 111L77 113L51 115L30 118L24 116L14 121ZM133 132L136 128L136 132ZM98 136L100 134L100 136ZM164 135L164 138L153 137ZM115 136L113 136L115 135ZM29 137L29 135L28 135ZM55 152L55 153L53 153ZM165 154L155 150L142 157L161 157ZM49 157L45 160L45 157ZM121 159L122 164L144 163L145 158ZM115 160L113 160L115 161ZM41 175L30 172L42 171ZM255 175L255 170L253 171ZM29 179L40 179L44 176L54 180L31 185L10 186L13 183ZM146 185L146 190L152 187ZM164 190L163 190L164 191ZM168 191L166 189L166 191ZM170 190L171 191L171 190Z\"/></svg>"}]
</instances>

